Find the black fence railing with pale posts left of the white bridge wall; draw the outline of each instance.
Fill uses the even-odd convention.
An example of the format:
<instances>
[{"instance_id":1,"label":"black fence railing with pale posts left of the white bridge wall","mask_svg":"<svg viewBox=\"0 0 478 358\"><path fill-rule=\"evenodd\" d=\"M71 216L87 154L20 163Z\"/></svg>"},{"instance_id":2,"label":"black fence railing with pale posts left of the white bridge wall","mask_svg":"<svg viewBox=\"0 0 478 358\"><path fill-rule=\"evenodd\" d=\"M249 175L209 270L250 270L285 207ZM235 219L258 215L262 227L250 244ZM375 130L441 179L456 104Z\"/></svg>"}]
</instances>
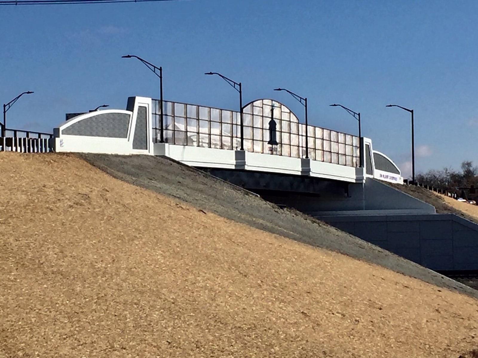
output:
<instances>
[{"instance_id":1,"label":"black fence railing with pale posts left of the white bridge wall","mask_svg":"<svg viewBox=\"0 0 478 358\"><path fill-rule=\"evenodd\" d=\"M3 129L3 128L2 128ZM53 133L21 129L2 130L0 150L22 153L48 153L53 151Z\"/></svg>"}]
</instances>

